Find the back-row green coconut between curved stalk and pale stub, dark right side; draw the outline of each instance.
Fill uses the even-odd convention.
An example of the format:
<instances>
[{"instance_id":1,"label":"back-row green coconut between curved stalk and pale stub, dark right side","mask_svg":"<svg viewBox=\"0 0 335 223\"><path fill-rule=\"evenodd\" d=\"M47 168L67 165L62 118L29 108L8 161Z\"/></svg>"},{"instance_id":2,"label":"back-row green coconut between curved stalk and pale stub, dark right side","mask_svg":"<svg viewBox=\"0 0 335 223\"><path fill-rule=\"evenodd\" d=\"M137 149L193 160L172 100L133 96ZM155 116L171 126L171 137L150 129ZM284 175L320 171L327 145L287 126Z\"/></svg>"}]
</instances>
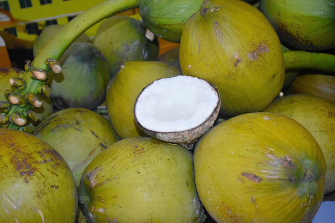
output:
<instances>
[{"instance_id":1,"label":"back-row green coconut between curved stalk and pale stub, dark right side","mask_svg":"<svg viewBox=\"0 0 335 223\"><path fill-rule=\"evenodd\" d=\"M112 16L101 23L93 44L106 57L113 74L128 61L155 61L159 53L158 39L145 36L143 23L129 16Z\"/></svg>"}]
</instances>

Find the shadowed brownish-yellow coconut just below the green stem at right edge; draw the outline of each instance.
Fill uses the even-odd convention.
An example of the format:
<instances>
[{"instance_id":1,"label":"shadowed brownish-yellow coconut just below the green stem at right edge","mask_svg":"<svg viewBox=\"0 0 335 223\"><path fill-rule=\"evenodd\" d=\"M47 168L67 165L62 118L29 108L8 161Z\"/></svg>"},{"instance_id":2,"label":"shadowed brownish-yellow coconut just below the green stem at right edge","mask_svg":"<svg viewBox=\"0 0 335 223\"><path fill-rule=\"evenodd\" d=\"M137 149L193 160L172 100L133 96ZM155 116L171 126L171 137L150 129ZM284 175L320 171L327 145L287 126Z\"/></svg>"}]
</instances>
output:
<instances>
[{"instance_id":1,"label":"shadowed brownish-yellow coconut just below the green stem at right edge","mask_svg":"<svg viewBox=\"0 0 335 223\"><path fill-rule=\"evenodd\" d=\"M335 103L335 76L330 73L315 71L313 74L297 76L286 94L307 94L329 100Z\"/></svg>"}]
</instances>

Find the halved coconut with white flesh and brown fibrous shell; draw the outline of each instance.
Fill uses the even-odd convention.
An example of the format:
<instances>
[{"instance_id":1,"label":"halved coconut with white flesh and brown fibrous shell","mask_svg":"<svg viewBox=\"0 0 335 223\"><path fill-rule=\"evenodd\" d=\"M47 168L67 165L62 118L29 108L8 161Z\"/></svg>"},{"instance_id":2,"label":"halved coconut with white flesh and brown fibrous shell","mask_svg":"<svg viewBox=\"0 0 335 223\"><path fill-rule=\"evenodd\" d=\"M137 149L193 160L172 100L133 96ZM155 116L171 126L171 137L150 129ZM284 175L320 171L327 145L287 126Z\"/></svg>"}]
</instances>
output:
<instances>
[{"instance_id":1,"label":"halved coconut with white flesh and brown fibrous shell","mask_svg":"<svg viewBox=\"0 0 335 223\"><path fill-rule=\"evenodd\" d=\"M183 75L161 78L137 96L134 119L148 135L186 145L213 126L220 105L219 92L203 79Z\"/></svg>"}]
</instances>

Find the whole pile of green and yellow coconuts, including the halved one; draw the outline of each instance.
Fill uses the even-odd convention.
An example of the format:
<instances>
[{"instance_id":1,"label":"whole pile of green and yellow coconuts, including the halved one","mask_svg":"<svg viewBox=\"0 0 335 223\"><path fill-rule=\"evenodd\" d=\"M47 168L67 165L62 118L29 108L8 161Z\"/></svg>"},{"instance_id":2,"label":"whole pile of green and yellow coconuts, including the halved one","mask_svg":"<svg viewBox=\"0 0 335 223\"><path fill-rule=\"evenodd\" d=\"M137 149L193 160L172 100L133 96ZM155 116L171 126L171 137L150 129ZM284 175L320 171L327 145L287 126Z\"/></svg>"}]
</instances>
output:
<instances>
[{"instance_id":1,"label":"whole pile of green and yellow coconuts, including the halved one","mask_svg":"<svg viewBox=\"0 0 335 223\"><path fill-rule=\"evenodd\" d=\"M311 223L335 191L335 4L301 4L138 0L83 33L33 132L0 128L0 222Z\"/></svg>"}]
</instances>

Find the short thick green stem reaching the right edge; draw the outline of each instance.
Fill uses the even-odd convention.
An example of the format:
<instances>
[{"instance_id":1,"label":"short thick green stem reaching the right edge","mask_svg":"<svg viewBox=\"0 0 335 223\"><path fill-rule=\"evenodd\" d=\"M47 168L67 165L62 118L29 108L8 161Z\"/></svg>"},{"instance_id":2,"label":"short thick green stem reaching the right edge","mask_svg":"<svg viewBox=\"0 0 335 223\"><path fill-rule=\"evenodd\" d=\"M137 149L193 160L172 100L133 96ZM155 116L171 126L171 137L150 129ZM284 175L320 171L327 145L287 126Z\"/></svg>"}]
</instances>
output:
<instances>
[{"instance_id":1,"label":"short thick green stem reaching the right edge","mask_svg":"<svg viewBox=\"0 0 335 223\"><path fill-rule=\"evenodd\" d=\"M305 51L284 52L285 69L317 69L335 73L335 55Z\"/></svg>"}]
</instances>

